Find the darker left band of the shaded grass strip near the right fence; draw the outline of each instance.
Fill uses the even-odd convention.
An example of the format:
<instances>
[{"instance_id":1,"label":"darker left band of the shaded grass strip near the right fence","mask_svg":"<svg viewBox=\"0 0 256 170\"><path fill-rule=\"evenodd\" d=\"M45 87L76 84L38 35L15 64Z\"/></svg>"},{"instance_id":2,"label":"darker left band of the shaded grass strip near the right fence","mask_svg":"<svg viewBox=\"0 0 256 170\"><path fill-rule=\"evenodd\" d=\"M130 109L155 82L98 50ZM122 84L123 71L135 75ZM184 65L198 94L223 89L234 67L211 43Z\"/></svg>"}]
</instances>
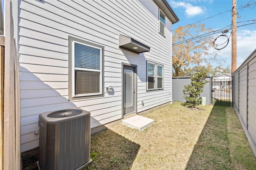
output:
<instances>
[{"instance_id":1,"label":"darker left band of the shaded grass strip near the right fence","mask_svg":"<svg viewBox=\"0 0 256 170\"><path fill-rule=\"evenodd\" d=\"M222 106L212 108L186 169L225 169L232 167L225 108Z\"/></svg>"}]
</instances>

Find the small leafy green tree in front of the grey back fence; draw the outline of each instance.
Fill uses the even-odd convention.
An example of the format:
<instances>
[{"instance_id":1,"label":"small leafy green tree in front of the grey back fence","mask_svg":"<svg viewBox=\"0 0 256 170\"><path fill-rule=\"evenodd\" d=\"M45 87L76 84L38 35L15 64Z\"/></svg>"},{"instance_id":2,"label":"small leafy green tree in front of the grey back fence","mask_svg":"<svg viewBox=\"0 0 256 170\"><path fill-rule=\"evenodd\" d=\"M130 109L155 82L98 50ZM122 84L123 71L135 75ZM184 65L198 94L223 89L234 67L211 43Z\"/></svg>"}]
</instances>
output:
<instances>
[{"instance_id":1,"label":"small leafy green tree in front of the grey back fence","mask_svg":"<svg viewBox=\"0 0 256 170\"><path fill-rule=\"evenodd\" d=\"M200 94L204 90L204 85L209 82L206 80L207 72L200 71L195 72L194 75L190 76L191 83L184 86L183 94L184 98L192 104L192 107L196 108L202 102Z\"/></svg>"}]
</instances>

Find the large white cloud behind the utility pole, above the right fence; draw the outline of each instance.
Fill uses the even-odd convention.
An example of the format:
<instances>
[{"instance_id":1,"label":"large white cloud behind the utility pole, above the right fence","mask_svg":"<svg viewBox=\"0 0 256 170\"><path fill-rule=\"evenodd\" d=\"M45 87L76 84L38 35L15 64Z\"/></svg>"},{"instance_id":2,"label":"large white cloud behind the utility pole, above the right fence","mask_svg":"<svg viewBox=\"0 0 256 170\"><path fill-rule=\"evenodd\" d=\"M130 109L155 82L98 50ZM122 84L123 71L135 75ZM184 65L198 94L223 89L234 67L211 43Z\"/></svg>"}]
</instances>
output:
<instances>
[{"instance_id":1,"label":"large white cloud behind the utility pole, above the right fence","mask_svg":"<svg viewBox=\"0 0 256 170\"><path fill-rule=\"evenodd\" d=\"M237 32L237 68L256 49L256 31L240 30ZM227 64L231 65L232 59L232 36L226 48L221 50L227 58Z\"/></svg>"}]
</instances>

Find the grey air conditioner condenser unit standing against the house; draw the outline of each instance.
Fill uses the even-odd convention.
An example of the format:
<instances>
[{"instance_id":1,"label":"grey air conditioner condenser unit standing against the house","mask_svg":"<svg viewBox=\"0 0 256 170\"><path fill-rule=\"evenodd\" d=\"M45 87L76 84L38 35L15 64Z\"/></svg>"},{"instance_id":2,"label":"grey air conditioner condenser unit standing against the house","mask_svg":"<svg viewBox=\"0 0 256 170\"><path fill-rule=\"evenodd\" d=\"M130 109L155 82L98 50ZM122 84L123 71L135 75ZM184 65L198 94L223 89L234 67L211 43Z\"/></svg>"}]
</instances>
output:
<instances>
[{"instance_id":1,"label":"grey air conditioner condenser unit standing against the house","mask_svg":"<svg viewBox=\"0 0 256 170\"><path fill-rule=\"evenodd\" d=\"M90 158L90 112L80 108L41 113L39 168L80 170Z\"/></svg>"}]
</instances>

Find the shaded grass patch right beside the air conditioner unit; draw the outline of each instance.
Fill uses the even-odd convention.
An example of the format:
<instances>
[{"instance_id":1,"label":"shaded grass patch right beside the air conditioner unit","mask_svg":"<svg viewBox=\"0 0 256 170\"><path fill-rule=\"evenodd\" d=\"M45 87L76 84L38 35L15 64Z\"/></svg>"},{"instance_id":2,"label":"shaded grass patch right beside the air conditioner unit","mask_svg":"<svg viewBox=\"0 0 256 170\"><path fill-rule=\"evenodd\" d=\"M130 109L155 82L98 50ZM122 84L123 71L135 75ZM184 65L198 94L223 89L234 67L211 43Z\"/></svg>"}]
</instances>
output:
<instances>
[{"instance_id":1,"label":"shaded grass patch right beside the air conditioner unit","mask_svg":"<svg viewBox=\"0 0 256 170\"><path fill-rule=\"evenodd\" d=\"M140 145L105 129L91 135L92 163L84 170L129 170Z\"/></svg>"}]
</instances>

